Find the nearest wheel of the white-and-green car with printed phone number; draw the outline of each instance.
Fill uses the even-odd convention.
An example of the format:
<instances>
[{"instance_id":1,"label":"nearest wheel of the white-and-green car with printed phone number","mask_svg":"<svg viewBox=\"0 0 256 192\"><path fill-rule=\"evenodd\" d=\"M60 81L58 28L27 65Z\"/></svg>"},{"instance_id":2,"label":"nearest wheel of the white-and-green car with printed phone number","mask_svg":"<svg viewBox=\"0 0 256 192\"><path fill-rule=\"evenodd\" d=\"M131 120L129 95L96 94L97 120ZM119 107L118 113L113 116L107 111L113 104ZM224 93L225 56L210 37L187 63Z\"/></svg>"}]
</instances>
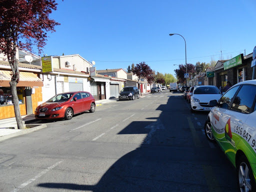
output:
<instances>
[{"instance_id":1,"label":"nearest wheel of the white-and-green car with printed phone number","mask_svg":"<svg viewBox=\"0 0 256 192\"><path fill-rule=\"evenodd\" d=\"M238 157L236 163L236 175L239 191L255 191L256 184L252 169L245 155Z\"/></svg>"}]
</instances>

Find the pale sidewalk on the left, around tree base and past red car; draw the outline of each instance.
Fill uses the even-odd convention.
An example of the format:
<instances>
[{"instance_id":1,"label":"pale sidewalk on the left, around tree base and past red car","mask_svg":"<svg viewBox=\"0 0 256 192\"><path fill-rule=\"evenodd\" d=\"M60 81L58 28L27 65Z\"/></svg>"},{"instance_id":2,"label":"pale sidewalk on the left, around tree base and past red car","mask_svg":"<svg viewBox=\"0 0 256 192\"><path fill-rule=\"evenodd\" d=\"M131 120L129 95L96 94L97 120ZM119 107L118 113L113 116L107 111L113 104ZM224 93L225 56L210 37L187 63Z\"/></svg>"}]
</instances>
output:
<instances>
[{"instance_id":1,"label":"pale sidewalk on the left, around tree base and past red car","mask_svg":"<svg viewBox=\"0 0 256 192\"><path fill-rule=\"evenodd\" d=\"M95 103L96 103L96 106L100 106L104 103L112 102L116 100L118 100L118 98L102 99L102 100L96 100ZM23 115L21 117L23 119L23 123L26 124L27 128L25 129L17 129L17 123L16 123L15 117L0 119L0 141L6 138L18 136L21 134L25 134L25 133L46 127L45 124L31 124L37 121L37 119L35 119L34 117L34 114Z\"/></svg>"}]
</instances>

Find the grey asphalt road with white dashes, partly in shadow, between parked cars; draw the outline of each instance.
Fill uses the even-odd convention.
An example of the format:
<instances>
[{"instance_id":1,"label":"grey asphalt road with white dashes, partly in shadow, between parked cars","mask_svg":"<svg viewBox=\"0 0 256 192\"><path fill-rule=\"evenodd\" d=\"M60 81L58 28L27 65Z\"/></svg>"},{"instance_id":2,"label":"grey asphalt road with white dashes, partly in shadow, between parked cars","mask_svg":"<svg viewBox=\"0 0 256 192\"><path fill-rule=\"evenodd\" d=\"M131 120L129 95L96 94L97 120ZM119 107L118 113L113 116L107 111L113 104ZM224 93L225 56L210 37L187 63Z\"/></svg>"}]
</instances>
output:
<instances>
[{"instance_id":1,"label":"grey asphalt road with white dashes, partly in shadow, between parked cars","mask_svg":"<svg viewBox=\"0 0 256 192\"><path fill-rule=\"evenodd\" d=\"M234 167L167 90L0 142L0 191L236 191Z\"/></svg>"}]
</instances>

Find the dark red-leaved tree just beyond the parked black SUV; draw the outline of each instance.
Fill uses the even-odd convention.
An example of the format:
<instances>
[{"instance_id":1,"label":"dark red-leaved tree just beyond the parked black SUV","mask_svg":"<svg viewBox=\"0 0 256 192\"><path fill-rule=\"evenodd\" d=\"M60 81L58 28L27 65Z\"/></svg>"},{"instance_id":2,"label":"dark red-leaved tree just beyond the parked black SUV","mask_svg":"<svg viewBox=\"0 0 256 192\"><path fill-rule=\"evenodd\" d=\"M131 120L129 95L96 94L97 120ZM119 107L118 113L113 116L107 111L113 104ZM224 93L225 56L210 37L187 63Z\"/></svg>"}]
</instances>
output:
<instances>
[{"instance_id":1,"label":"dark red-leaved tree just beyond the parked black SUV","mask_svg":"<svg viewBox=\"0 0 256 192\"><path fill-rule=\"evenodd\" d=\"M152 69L143 61L136 64L136 66L134 66L134 68L132 69L132 72L133 74L137 75L138 81L139 81L140 78L146 78L148 75L152 74ZM139 83L138 83L138 88L140 90ZM141 95L141 91L140 91L140 95Z\"/></svg>"}]
</instances>

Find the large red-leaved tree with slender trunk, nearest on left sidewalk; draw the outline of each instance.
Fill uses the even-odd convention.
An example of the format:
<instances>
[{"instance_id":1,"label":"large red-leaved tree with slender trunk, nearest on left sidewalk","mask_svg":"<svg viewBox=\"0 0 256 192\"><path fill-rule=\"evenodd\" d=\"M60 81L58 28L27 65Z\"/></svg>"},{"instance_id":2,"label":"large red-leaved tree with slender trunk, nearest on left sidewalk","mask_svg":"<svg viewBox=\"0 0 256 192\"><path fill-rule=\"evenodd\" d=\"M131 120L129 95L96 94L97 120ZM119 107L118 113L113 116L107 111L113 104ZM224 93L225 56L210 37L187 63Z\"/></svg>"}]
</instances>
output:
<instances>
[{"instance_id":1,"label":"large red-leaved tree with slender trunk, nearest on left sidewalk","mask_svg":"<svg viewBox=\"0 0 256 192\"><path fill-rule=\"evenodd\" d=\"M9 84L18 128L24 125L16 90L19 81L16 51L31 51L32 46L37 46L38 53L41 52L47 32L55 31L55 25L59 24L49 18L56 6L55 0L0 0L0 53L7 56L12 71Z\"/></svg>"}]
</instances>

